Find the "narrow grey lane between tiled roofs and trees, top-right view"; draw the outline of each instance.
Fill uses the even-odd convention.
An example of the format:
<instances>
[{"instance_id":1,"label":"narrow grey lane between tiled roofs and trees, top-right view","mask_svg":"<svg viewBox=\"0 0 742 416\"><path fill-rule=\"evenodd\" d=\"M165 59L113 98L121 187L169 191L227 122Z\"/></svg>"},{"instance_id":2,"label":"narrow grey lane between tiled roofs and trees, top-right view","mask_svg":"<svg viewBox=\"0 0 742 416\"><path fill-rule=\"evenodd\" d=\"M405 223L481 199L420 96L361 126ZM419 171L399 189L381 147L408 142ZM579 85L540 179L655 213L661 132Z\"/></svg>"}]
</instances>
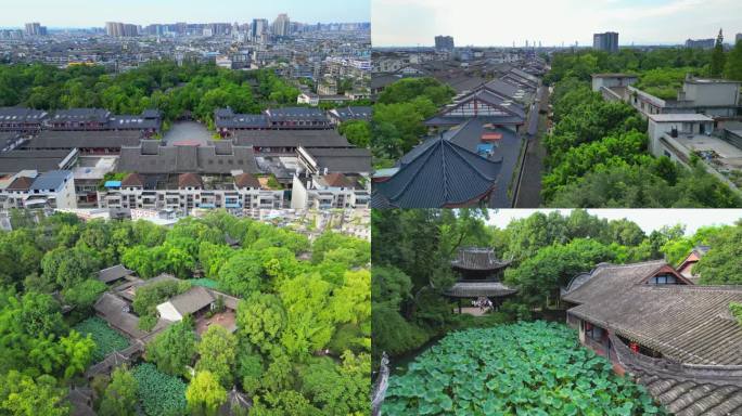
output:
<instances>
[{"instance_id":1,"label":"narrow grey lane between tiled roofs and trees, top-right view","mask_svg":"<svg viewBox=\"0 0 742 416\"><path fill-rule=\"evenodd\" d=\"M542 87L540 105L542 109L548 108L549 89L547 87ZM541 119L541 122L545 122L543 117L538 117L537 119ZM541 139L539 134L528 139L528 148L523 164L523 178L515 208L538 208L541 205L541 176L543 173L543 159L547 156Z\"/></svg>"}]
</instances>

